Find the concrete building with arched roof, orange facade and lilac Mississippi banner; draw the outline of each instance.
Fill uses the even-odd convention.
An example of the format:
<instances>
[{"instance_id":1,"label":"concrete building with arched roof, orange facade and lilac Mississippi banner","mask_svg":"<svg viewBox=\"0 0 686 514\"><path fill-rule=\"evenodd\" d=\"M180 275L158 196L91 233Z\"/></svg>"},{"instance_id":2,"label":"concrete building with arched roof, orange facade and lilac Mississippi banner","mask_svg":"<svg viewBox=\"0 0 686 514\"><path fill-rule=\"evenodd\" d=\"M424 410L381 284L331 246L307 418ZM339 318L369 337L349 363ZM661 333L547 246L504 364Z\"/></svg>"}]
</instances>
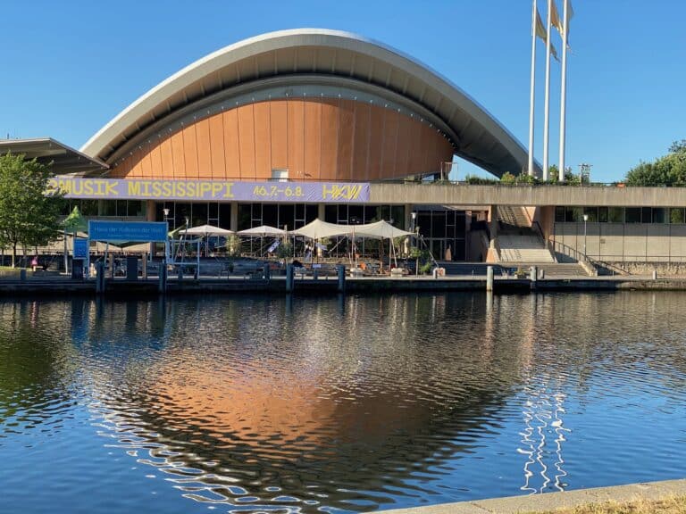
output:
<instances>
[{"instance_id":1,"label":"concrete building with arched roof, orange facade and lilac Mississippi banner","mask_svg":"<svg viewBox=\"0 0 686 514\"><path fill-rule=\"evenodd\" d=\"M686 260L686 228L672 227L683 225L681 192L427 185L447 178L454 156L516 175L526 150L439 73L335 30L209 54L79 151L53 139L0 141L0 151L52 160L54 186L88 216L232 230L384 219L418 227L434 254L457 261Z\"/></svg>"}]
</instances>

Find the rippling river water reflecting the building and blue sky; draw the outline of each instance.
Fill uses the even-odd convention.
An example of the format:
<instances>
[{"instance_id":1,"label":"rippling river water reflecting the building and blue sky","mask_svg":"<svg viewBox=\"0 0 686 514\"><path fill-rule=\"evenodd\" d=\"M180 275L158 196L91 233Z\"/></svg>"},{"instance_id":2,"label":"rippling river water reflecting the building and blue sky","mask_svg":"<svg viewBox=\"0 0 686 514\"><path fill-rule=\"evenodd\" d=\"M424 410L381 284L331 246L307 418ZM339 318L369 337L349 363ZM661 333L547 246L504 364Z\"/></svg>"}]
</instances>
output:
<instances>
[{"instance_id":1,"label":"rippling river water reflecting the building and blue sky","mask_svg":"<svg viewBox=\"0 0 686 514\"><path fill-rule=\"evenodd\" d=\"M686 477L686 294L0 303L0 511L340 512Z\"/></svg>"}]
</instances>

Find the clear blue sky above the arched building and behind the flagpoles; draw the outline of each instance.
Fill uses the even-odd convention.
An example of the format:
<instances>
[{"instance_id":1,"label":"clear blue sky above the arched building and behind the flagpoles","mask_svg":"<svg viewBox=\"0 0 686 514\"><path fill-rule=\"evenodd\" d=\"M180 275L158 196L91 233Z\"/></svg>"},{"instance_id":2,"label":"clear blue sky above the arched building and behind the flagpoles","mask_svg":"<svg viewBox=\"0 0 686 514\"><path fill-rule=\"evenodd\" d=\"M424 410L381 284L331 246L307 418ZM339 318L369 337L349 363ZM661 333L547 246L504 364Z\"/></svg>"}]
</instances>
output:
<instances>
[{"instance_id":1,"label":"clear blue sky above the arched building and behind the flagpoles","mask_svg":"<svg viewBox=\"0 0 686 514\"><path fill-rule=\"evenodd\" d=\"M572 0L567 159L613 181L686 138L686 2ZM556 0L559 7L562 0ZM545 1L539 0L545 19ZM0 137L83 145L150 87L240 39L342 29L414 56L528 141L531 0L3 2ZM559 37L554 42L560 49ZM538 46L536 158L542 159L544 46ZM557 162L559 64L552 64L550 160ZM459 177L473 172L464 163Z\"/></svg>"}]
</instances>

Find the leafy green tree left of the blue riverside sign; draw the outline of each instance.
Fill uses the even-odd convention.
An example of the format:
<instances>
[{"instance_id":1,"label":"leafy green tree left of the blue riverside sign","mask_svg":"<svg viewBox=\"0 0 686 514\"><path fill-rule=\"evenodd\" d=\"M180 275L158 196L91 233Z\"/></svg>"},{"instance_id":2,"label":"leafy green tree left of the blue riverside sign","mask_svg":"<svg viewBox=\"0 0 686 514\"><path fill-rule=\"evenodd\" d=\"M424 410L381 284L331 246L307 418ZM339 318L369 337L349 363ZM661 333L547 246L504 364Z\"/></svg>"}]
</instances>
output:
<instances>
[{"instance_id":1,"label":"leafy green tree left of the blue riverside sign","mask_svg":"<svg viewBox=\"0 0 686 514\"><path fill-rule=\"evenodd\" d=\"M46 245L58 236L63 195L46 195L50 166L22 154L0 155L0 245Z\"/></svg>"}]
</instances>

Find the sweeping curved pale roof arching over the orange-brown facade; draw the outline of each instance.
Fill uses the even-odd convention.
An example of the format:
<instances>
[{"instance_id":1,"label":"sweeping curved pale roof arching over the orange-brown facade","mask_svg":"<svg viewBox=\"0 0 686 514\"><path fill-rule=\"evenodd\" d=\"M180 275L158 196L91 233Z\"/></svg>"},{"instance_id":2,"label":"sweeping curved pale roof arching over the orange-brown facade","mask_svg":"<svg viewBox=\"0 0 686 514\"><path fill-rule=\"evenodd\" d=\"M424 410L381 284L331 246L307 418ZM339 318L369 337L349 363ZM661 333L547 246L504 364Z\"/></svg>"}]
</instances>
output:
<instances>
[{"instance_id":1,"label":"sweeping curved pale roof arching over the orange-brown facade","mask_svg":"<svg viewBox=\"0 0 686 514\"><path fill-rule=\"evenodd\" d=\"M111 162L144 129L210 95L259 80L305 75L353 79L421 105L447 127L457 155L495 175L517 174L526 165L523 145L448 79L388 46L327 29L271 32L206 55L140 96L81 152Z\"/></svg>"}]
</instances>

